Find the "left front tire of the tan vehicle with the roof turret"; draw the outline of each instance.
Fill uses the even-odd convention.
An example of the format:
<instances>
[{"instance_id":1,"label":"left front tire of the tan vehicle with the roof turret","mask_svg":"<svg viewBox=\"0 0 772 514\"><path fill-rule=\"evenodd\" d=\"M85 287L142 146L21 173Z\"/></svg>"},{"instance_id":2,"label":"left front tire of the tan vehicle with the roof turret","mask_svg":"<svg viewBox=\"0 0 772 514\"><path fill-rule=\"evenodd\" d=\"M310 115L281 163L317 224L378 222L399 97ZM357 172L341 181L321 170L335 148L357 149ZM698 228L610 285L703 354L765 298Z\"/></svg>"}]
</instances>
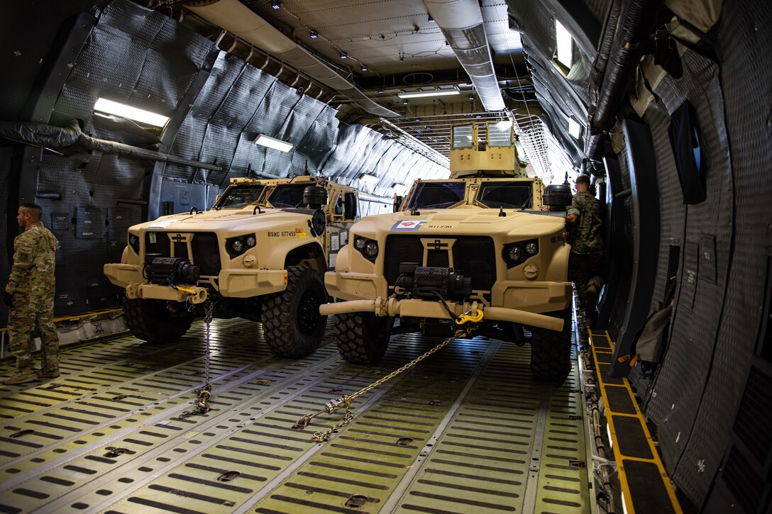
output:
<instances>
[{"instance_id":1,"label":"left front tire of the tan vehicle with the roof turret","mask_svg":"<svg viewBox=\"0 0 772 514\"><path fill-rule=\"evenodd\" d=\"M386 353L394 319L373 313L335 316L338 353L348 362L375 364Z\"/></svg>"}]
</instances>

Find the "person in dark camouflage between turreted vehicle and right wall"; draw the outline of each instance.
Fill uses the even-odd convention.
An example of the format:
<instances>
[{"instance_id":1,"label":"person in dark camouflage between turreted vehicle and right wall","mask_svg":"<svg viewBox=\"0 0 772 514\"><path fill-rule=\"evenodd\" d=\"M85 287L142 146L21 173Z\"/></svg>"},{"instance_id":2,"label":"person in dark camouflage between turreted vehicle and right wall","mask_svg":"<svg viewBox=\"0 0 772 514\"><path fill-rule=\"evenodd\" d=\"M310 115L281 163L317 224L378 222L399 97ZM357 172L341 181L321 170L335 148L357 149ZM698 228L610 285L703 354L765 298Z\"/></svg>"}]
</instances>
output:
<instances>
[{"instance_id":1,"label":"person in dark camouflage between turreted vehicle and right wall","mask_svg":"<svg viewBox=\"0 0 772 514\"><path fill-rule=\"evenodd\" d=\"M567 210L566 221L574 228L571 242L569 276L577 288L579 306L584 308L585 318L591 322L595 316L595 303L603 285L604 259L601 225L601 202L590 194L590 177L579 175L577 194Z\"/></svg>"}]
</instances>

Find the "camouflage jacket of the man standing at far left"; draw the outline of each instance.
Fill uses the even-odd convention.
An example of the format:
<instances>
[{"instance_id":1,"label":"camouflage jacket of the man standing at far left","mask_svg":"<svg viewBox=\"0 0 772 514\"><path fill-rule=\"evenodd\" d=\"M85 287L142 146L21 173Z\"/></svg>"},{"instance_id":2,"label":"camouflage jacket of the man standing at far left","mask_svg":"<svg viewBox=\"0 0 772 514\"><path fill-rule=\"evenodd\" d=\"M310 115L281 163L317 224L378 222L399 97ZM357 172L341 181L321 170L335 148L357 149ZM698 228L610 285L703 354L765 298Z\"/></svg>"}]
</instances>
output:
<instances>
[{"instance_id":1,"label":"camouflage jacket of the man standing at far left","mask_svg":"<svg viewBox=\"0 0 772 514\"><path fill-rule=\"evenodd\" d=\"M5 290L31 295L36 303L52 302L58 246L59 242L41 222L29 225L13 240L13 265Z\"/></svg>"}]
</instances>

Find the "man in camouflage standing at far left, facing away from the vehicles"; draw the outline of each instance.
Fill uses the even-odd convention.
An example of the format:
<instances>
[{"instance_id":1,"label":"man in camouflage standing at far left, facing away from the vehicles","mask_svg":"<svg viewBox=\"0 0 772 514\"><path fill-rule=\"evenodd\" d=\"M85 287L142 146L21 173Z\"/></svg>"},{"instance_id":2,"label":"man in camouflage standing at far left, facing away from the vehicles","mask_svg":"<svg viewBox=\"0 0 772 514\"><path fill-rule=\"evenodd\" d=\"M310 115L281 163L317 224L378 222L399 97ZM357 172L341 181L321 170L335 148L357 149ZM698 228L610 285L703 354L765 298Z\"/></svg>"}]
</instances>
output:
<instances>
[{"instance_id":1,"label":"man in camouflage standing at far left, facing away from the vehicles","mask_svg":"<svg viewBox=\"0 0 772 514\"><path fill-rule=\"evenodd\" d=\"M8 306L8 335L18 368L3 384L25 384L38 377L59 377L59 336L53 318L54 265L59 242L40 221L39 205L19 207L24 232L13 240L13 265L4 301ZM32 360L30 333L37 328L42 347L41 369Z\"/></svg>"}]
</instances>

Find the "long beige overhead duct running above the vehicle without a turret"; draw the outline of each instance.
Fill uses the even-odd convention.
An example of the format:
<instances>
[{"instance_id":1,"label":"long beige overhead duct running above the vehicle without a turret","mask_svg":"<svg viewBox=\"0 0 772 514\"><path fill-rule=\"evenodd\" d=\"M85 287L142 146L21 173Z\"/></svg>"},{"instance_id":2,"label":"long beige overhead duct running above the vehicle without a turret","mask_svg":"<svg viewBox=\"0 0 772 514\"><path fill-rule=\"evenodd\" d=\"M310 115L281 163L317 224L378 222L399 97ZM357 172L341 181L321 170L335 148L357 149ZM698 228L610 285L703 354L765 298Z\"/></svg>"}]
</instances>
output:
<instances>
[{"instance_id":1,"label":"long beige overhead duct running above the vehicle without a turret","mask_svg":"<svg viewBox=\"0 0 772 514\"><path fill-rule=\"evenodd\" d=\"M298 46L296 42L279 32L239 0L195 0L185 3L185 7L206 21L231 32L283 63L336 90L368 113L384 118L399 116L393 110L378 105L368 98L357 89L357 86L338 75L334 69L306 49Z\"/></svg>"}]
</instances>

